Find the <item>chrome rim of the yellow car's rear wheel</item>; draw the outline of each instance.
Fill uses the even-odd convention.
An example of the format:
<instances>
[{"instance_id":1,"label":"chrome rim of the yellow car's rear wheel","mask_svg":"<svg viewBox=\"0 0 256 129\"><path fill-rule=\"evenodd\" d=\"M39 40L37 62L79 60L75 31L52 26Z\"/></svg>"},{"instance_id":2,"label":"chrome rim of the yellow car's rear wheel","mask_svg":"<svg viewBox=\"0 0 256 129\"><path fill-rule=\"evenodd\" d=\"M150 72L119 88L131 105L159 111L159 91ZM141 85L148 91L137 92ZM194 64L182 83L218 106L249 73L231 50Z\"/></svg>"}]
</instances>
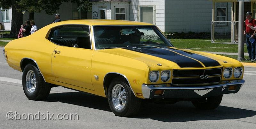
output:
<instances>
[{"instance_id":1,"label":"chrome rim of the yellow car's rear wheel","mask_svg":"<svg viewBox=\"0 0 256 129\"><path fill-rule=\"evenodd\" d=\"M26 75L26 87L28 92L33 93L36 90L36 74L29 70Z\"/></svg>"}]
</instances>

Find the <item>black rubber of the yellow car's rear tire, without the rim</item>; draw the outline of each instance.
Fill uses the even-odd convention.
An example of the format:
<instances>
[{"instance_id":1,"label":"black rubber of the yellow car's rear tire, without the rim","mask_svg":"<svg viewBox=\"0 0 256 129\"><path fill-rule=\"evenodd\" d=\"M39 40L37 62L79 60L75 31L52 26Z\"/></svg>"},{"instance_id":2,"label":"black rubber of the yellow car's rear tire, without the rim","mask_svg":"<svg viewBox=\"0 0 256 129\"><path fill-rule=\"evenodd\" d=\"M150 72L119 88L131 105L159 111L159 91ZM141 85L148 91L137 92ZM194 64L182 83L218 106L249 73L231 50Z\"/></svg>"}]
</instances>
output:
<instances>
[{"instance_id":1,"label":"black rubber of the yellow car's rear tire, without the rim","mask_svg":"<svg viewBox=\"0 0 256 129\"><path fill-rule=\"evenodd\" d=\"M29 88L26 85L26 76L28 72L32 73L34 72L35 78L36 78L36 87L33 92L29 92ZM23 74L22 74L22 86L23 86L23 91L25 95L27 96L28 99L30 100L43 100L48 97L50 91L51 91L51 86L49 83L46 83L44 81L43 76L41 75L39 69L32 65L28 64L25 66Z\"/></svg>"}]
</instances>

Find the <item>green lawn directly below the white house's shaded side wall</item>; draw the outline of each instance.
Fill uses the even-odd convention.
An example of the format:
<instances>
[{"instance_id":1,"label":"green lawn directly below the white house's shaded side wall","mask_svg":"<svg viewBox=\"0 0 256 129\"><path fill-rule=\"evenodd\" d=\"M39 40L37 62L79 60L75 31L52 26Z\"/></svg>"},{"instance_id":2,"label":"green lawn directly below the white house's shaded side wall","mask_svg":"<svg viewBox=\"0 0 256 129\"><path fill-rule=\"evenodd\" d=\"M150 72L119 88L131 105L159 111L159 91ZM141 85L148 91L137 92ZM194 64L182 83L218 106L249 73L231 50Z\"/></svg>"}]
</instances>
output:
<instances>
[{"instance_id":1,"label":"green lawn directly below the white house's shaded side wall","mask_svg":"<svg viewBox=\"0 0 256 129\"><path fill-rule=\"evenodd\" d=\"M237 47L237 44L213 44L211 40L205 39L171 39L174 47L187 48L207 48L207 47Z\"/></svg>"}]
</instances>

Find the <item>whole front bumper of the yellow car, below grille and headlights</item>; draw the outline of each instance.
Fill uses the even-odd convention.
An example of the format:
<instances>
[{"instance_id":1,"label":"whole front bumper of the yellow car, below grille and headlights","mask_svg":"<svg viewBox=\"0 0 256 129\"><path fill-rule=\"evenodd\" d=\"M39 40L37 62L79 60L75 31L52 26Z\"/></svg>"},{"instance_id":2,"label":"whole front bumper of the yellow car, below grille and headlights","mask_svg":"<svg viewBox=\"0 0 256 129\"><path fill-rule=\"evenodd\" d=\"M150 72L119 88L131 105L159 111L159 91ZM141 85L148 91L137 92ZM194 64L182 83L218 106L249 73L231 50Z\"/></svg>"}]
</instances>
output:
<instances>
[{"instance_id":1,"label":"whole front bumper of the yellow car, below grille and headlights","mask_svg":"<svg viewBox=\"0 0 256 129\"><path fill-rule=\"evenodd\" d=\"M166 85L142 85L144 98L204 98L229 93L237 93L244 85L244 80L222 81L218 85L196 87L173 87ZM156 92L162 94L156 94Z\"/></svg>"}]
</instances>

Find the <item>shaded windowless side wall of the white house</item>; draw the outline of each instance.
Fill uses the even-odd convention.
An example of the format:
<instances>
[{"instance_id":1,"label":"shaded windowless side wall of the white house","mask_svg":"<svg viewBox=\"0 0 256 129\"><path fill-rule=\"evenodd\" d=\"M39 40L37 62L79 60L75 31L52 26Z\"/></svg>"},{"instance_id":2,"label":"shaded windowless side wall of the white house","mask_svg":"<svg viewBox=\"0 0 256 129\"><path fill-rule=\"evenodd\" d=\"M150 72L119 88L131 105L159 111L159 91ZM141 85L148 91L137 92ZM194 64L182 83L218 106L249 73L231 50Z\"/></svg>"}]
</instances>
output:
<instances>
[{"instance_id":1,"label":"shaded windowless side wall of the white house","mask_svg":"<svg viewBox=\"0 0 256 129\"><path fill-rule=\"evenodd\" d=\"M211 32L212 1L165 0L166 32Z\"/></svg>"}]
</instances>

